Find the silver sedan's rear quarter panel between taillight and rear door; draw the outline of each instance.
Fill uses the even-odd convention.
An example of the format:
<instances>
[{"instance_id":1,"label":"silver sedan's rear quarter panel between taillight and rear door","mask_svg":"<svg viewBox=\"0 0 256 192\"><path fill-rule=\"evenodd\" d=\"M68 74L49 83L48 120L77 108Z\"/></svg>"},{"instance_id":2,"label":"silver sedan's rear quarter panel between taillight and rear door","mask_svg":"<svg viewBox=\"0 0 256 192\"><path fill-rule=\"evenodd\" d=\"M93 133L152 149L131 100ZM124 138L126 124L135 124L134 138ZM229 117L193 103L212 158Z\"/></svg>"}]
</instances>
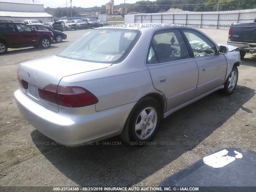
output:
<instances>
[{"instance_id":1,"label":"silver sedan's rear quarter panel between taillight and rear door","mask_svg":"<svg viewBox=\"0 0 256 192\"><path fill-rule=\"evenodd\" d=\"M149 93L160 93L153 87L145 64L150 36L151 33L142 34L122 62L108 68L66 76L60 85L82 86L92 92L99 100L95 105L96 111L136 102Z\"/></svg>"}]
</instances>

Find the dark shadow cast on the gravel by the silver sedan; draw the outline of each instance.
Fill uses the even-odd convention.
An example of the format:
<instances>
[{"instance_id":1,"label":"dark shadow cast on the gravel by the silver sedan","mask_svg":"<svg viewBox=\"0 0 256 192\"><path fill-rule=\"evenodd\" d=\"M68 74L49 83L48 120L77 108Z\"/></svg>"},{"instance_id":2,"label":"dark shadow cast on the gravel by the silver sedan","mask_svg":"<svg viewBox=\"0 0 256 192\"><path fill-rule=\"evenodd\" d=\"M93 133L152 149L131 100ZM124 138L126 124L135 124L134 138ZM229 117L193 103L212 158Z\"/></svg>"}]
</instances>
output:
<instances>
[{"instance_id":1,"label":"dark shadow cast on the gravel by the silver sedan","mask_svg":"<svg viewBox=\"0 0 256 192\"><path fill-rule=\"evenodd\" d=\"M128 146L118 136L78 148L39 145L52 140L37 130L31 137L45 158L80 186L132 186L195 148L238 110L247 110L243 105L254 94L240 85L230 96L214 92L165 118L153 143L143 147ZM160 184L154 179L153 186Z\"/></svg>"}]
</instances>

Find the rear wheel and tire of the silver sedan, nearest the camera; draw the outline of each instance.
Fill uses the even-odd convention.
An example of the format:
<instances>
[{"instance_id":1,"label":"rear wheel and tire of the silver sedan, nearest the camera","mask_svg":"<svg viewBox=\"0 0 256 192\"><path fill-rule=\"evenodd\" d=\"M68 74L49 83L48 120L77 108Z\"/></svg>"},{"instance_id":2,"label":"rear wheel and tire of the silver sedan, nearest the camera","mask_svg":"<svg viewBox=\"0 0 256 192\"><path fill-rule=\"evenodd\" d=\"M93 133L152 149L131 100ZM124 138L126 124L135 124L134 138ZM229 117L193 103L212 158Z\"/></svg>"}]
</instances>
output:
<instances>
[{"instance_id":1,"label":"rear wheel and tire of the silver sedan, nearest the camera","mask_svg":"<svg viewBox=\"0 0 256 192\"><path fill-rule=\"evenodd\" d=\"M129 145L143 145L154 138L160 121L160 104L154 98L142 98L130 112L120 136Z\"/></svg>"}]
</instances>

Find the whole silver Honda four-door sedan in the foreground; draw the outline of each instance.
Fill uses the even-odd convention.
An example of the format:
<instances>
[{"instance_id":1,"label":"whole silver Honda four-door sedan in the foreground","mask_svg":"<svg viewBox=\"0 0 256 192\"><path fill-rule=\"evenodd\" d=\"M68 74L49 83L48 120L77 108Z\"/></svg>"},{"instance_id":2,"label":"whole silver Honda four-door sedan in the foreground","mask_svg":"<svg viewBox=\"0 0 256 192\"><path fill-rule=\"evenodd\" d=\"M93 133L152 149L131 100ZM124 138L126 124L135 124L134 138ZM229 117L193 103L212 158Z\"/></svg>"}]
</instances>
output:
<instances>
[{"instance_id":1,"label":"whole silver Honda four-door sedan in the foreground","mask_svg":"<svg viewBox=\"0 0 256 192\"><path fill-rule=\"evenodd\" d=\"M232 94L236 50L178 25L96 28L60 54L20 63L14 96L30 124L65 146L116 135L136 145L176 110Z\"/></svg>"}]
</instances>

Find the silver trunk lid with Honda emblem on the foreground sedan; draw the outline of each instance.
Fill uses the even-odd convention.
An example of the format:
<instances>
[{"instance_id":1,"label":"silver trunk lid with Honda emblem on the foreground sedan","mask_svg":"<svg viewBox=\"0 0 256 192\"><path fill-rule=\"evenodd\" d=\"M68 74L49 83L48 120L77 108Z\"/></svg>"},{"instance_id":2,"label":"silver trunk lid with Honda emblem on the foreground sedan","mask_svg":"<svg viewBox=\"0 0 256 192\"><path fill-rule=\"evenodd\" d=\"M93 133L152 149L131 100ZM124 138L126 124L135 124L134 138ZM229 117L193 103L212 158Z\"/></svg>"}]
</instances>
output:
<instances>
[{"instance_id":1,"label":"silver trunk lid with Honda emblem on the foreground sedan","mask_svg":"<svg viewBox=\"0 0 256 192\"><path fill-rule=\"evenodd\" d=\"M21 90L26 96L38 104L58 112L57 104L48 102L39 97L38 88L43 89L48 84L58 85L64 76L99 70L108 66L111 66L111 64L50 56L48 58L20 63L18 73L22 80L28 82L26 89L24 86L21 86Z\"/></svg>"}]
</instances>

